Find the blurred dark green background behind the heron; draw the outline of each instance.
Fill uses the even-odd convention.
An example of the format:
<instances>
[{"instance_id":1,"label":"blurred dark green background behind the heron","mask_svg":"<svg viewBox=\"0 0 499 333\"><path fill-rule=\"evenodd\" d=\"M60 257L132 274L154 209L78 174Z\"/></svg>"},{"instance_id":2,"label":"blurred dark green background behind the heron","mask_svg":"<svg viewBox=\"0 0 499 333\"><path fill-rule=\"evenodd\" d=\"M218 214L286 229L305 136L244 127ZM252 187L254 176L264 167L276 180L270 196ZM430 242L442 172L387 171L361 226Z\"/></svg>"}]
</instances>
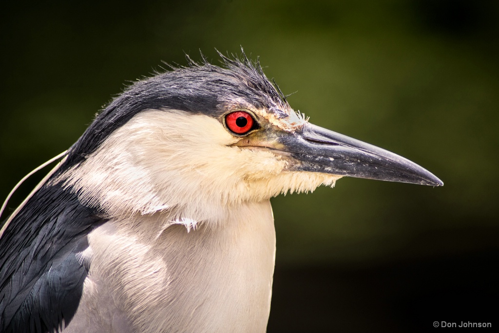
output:
<instances>
[{"instance_id":1,"label":"blurred dark green background behind the heron","mask_svg":"<svg viewBox=\"0 0 499 333\"><path fill-rule=\"evenodd\" d=\"M498 324L499 2L19 1L2 5L0 27L2 200L127 82L186 64L184 52L218 63L215 48L243 46L312 123L445 183L343 178L272 199L268 332Z\"/></svg>"}]
</instances>

